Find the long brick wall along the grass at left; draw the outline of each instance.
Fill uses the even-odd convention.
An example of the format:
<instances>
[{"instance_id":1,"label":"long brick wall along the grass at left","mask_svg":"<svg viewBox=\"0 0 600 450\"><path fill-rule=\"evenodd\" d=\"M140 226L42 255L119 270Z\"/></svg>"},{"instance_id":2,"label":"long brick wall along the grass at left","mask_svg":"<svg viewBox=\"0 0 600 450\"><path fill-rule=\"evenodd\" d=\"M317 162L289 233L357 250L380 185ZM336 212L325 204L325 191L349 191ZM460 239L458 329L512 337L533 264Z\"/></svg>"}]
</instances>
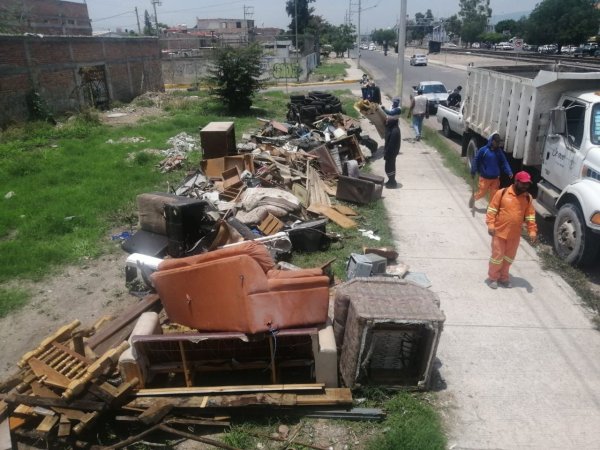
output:
<instances>
[{"instance_id":1,"label":"long brick wall along the grass at left","mask_svg":"<svg viewBox=\"0 0 600 450\"><path fill-rule=\"evenodd\" d=\"M102 66L111 101L164 89L156 38L0 36L0 126L29 118L37 91L54 114L87 105L80 69Z\"/></svg>"}]
</instances>

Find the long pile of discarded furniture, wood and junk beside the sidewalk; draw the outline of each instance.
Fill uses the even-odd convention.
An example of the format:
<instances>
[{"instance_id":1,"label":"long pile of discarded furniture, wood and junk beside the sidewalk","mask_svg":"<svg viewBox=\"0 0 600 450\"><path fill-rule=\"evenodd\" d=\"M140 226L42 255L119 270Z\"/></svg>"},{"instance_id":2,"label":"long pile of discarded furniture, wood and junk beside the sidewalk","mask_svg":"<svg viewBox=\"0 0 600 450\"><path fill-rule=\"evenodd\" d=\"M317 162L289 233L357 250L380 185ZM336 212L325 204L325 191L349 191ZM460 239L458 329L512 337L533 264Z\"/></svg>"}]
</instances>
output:
<instances>
[{"instance_id":1,"label":"long pile of discarded furniture, wood and junk beside the sidewalk","mask_svg":"<svg viewBox=\"0 0 600 450\"><path fill-rule=\"evenodd\" d=\"M144 297L110 322L85 329L77 321L66 325L23 356L14 375L0 383L0 450L16 442L123 448L155 431L233 448L203 437L203 430L227 427L224 417L248 408L300 414L311 408L317 417L329 417L323 408L336 408L331 417L380 419L380 412L351 410L352 394L340 387L340 357L350 361L343 372L352 372L348 386L380 370L386 380L403 380L399 365L409 363L411 373L413 366L429 370L441 325L435 336L427 330L431 317L443 321L441 313L433 314L435 305L427 309L423 329L415 330L414 321L402 325L402 312L389 300L382 303L390 313L376 322L393 316L386 328L392 336L385 340L398 346L397 361L384 355L381 367L370 366L381 349L342 345L346 328L354 333L350 343L363 331L379 333L346 322L346 316L360 321L373 314L347 314L354 311L351 293L364 296L362 277L387 275L373 285L382 292L404 289L406 266L386 272L398 256L394 249L349 255L348 278L357 288L340 299L343 307L336 303L334 318L332 261L306 269L286 262L293 252L326 249L338 237L327 231L329 221L357 227L356 212L344 202L381 198L383 177L360 171L371 155L361 142L369 141L360 123L340 109L335 97L313 92L292 96L288 122L260 119L261 127L242 142L235 142L233 122L200 130L200 166L172 192L137 197L139 226L123 242L130 253L125 278ZM185 133L169 144L162 170L180 167L198 149L198 140ZM435 297L411 289L417 303L421 296ZM383 299L368 301L385 312L377 306ZM398 324L400 334L394 335ZM415 352L420 348L428 351L427 360ZM417 375L415 382L425 386L429 372ZM109 420L125 424L125 436L99 447L97 427Z\"/></svg>"}]
</instances>

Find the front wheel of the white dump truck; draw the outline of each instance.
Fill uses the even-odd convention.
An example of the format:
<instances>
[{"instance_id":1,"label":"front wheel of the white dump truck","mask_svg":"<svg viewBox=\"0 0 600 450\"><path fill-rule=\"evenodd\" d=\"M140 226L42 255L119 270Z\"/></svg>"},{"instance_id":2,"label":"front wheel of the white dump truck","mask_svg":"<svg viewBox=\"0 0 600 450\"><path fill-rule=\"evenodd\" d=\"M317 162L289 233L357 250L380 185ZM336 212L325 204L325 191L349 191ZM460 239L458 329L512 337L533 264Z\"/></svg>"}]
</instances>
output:
<instances>
[{"instance_id":1,"label":"front wheel of the white dump truck","mask_svg":"<svg viewBox=\"0 0 600 450\"><path fill-rule=\"evenodd\" d=\"M578 266L594 262L598 255L599 236L585 226L578 205L565 203L554 220L554 250L558 256Z\"/></svg>"}]
</instances>

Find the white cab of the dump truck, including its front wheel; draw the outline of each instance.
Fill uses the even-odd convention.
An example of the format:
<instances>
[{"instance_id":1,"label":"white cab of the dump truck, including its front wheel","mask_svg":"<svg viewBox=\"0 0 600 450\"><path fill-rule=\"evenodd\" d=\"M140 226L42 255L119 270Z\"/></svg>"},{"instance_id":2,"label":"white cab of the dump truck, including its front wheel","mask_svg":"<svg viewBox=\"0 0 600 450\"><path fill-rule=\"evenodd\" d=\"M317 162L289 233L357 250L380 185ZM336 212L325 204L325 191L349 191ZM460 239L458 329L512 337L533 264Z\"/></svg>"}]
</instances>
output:
<instances>
[{"instance_id":1,"label":"white cab of the dump truck, including its front wheel","mask_svg":"<svg viewBox=\"0 0 600 450\"><path fill-rule=\"evenodd\" d=\"M536 210L556 217L555 249L593 262L600 247L600 94L566 93L552 110Z\"/></svg>"}]
</instances>

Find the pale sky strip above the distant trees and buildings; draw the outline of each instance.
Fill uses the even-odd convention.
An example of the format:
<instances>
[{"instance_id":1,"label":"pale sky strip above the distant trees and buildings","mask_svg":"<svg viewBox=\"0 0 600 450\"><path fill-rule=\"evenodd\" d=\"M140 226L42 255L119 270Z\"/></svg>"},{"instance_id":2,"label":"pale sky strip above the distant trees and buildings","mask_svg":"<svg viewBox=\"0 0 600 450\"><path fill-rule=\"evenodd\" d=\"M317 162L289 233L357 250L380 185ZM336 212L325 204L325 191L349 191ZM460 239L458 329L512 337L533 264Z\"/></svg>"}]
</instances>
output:
<instances>
[{"instance_id":1,"label":"pale sky strip above the distant trees and buildings","mask_svg":"<svg viewBox=\"0 0 600 450\"><path fill-rule=\"evenodd\" d=\"M92 19L94 31L117 28L137 29L135 8L137 7L140 23L143 27L144 10L153 15L151 0L71 0L84 2ZM400 0L360 0L361 1L361 33L377 28L393 26L400 15ZM491 0L492 15L512 13L528 14L541 0ZM350 8L352 23L356 25L359 0L316 0L311 3L315 14L323 16L333 25L340 25ZM435 18L448 17L458 13L458 0L407 0L407 14L414 17L417 12L425 13L431 9ZM285 12L285 0L162 0L156 6L158 21L167 25L186 24L193 27L196 18L244 18L244 7L247 16L255 21L257 27L287 28L290 18Z\"/></svg>"}]
</instances>

